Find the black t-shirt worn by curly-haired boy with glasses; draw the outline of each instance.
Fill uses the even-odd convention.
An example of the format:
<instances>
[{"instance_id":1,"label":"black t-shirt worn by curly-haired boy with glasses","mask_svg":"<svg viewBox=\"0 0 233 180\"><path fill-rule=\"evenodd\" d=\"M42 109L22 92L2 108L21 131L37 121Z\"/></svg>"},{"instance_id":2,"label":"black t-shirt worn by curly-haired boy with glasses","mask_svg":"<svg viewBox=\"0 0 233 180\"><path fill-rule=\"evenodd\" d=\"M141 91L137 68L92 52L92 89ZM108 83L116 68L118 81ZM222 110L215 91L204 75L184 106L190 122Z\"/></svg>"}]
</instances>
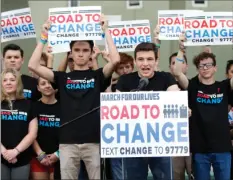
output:
<instances>
[{"instance_id":1,"label":"black t-shirt worn by curly-haired boy with glasses","mask_svg":"<svg viewBox=\"0 0 233 180\"><path fill-rule=\"evenodd\" d=\"M198 77L189 81L190 147L192 153L219 153L231 149L228 98L230 80L204 85Z\"/></svg>"}]
</instances>

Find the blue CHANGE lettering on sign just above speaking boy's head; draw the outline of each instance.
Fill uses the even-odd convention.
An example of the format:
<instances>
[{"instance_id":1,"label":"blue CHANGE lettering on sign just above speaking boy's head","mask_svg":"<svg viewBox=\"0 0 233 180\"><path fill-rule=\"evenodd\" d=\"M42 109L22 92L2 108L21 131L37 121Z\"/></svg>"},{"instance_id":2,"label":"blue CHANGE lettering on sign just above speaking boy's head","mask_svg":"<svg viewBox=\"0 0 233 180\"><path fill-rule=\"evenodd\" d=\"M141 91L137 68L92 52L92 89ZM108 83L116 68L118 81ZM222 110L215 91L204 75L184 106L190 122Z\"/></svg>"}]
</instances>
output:
<instances>
[{"instance_id":1,"label":"blue CHANGE lettering on sign just above speaking boy's head","mask_svg":"<svg viewBox=\"0 0 233 180\"><path fill-rule=\"evenodd\" d=\"M114 37L114 44L126 45L126 44L138 44L141 42L151 42L151 36L131 36L131 37Z\"/></svg>"}]
</instances>

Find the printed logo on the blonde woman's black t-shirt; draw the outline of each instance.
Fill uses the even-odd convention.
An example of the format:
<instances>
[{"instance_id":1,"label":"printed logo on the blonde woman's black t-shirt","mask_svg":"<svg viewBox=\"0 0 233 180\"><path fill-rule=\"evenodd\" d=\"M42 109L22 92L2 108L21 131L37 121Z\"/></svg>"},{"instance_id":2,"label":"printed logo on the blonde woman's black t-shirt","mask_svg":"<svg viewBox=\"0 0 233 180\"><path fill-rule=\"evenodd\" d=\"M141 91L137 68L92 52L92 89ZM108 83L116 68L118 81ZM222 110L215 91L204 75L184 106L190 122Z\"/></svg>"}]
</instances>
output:
<instances>
[{"instance_id":1,"label":"printed logo on the blonde woman's black t-shirt","mask_svg":"<svg viewBox=\"0 0 233 180\"><path fill-rule=\"evenodd\" d=\"M1 110L1 120L6 121L27 121L27 112L18 110Z\"/></svg>"}]
</instances>

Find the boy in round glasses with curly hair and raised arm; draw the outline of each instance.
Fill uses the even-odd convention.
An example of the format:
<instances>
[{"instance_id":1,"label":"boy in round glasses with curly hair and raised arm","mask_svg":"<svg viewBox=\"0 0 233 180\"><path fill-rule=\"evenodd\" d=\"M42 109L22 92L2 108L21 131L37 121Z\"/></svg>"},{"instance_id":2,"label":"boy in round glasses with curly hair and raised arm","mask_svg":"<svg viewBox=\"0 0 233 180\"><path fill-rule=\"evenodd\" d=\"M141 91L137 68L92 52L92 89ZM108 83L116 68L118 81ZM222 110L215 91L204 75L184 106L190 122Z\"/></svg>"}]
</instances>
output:
<instances>
[{"instance_id":1,"label":"boy in round glasses with curly hair and raised arm","mask_svg":"<svg viewBox=\"0 0 233 180\"><path fill-rule=\"evenodd\" d=\"M215 55L202 52L193 59L198 75L188 80L182 73L185 37L175 62L176 79L188 90L190 117L190 149L196 180L210 179L213 166L216 180L230 179L231 138L228 122L228 98L233 79L215 81Z\"/></svg>"}]
</instances>

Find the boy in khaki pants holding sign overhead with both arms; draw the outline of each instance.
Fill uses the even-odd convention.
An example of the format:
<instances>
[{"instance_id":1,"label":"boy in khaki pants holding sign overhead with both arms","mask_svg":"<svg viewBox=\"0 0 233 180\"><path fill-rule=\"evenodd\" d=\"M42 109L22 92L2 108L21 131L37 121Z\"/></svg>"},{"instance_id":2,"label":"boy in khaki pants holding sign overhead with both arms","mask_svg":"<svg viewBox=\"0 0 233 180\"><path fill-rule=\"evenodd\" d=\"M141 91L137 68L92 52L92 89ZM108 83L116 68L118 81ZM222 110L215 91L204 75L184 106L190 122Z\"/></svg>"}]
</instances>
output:
<instances>
[{"instance_id":1,"label":"boy in khaki pants holding sign overhead with both arms","mask_svg":"<svg viewBox=\"0 0 233 180\"><path fill-rule=\"evenodd\" d=\"M77 179L80 160L83 160L89 179L100 179L100 117L97 111L73 121L84 113L97 109L100 105L100 92L110 84L115 65L120 61L119 54L108 31L104 17L101 26L108 43L111 61L97 70L89 69L89 60L93 53L93 41L72 41L70 44L74 70L55 72L39 64L46 39L38 43L28 67L41 77L55 82L59 87L61 100L61 124L68 123L60 130L60 163L62 179ZM50 23L43 26L42 38L48 37Z\"/></svg>"}]
</instances>

